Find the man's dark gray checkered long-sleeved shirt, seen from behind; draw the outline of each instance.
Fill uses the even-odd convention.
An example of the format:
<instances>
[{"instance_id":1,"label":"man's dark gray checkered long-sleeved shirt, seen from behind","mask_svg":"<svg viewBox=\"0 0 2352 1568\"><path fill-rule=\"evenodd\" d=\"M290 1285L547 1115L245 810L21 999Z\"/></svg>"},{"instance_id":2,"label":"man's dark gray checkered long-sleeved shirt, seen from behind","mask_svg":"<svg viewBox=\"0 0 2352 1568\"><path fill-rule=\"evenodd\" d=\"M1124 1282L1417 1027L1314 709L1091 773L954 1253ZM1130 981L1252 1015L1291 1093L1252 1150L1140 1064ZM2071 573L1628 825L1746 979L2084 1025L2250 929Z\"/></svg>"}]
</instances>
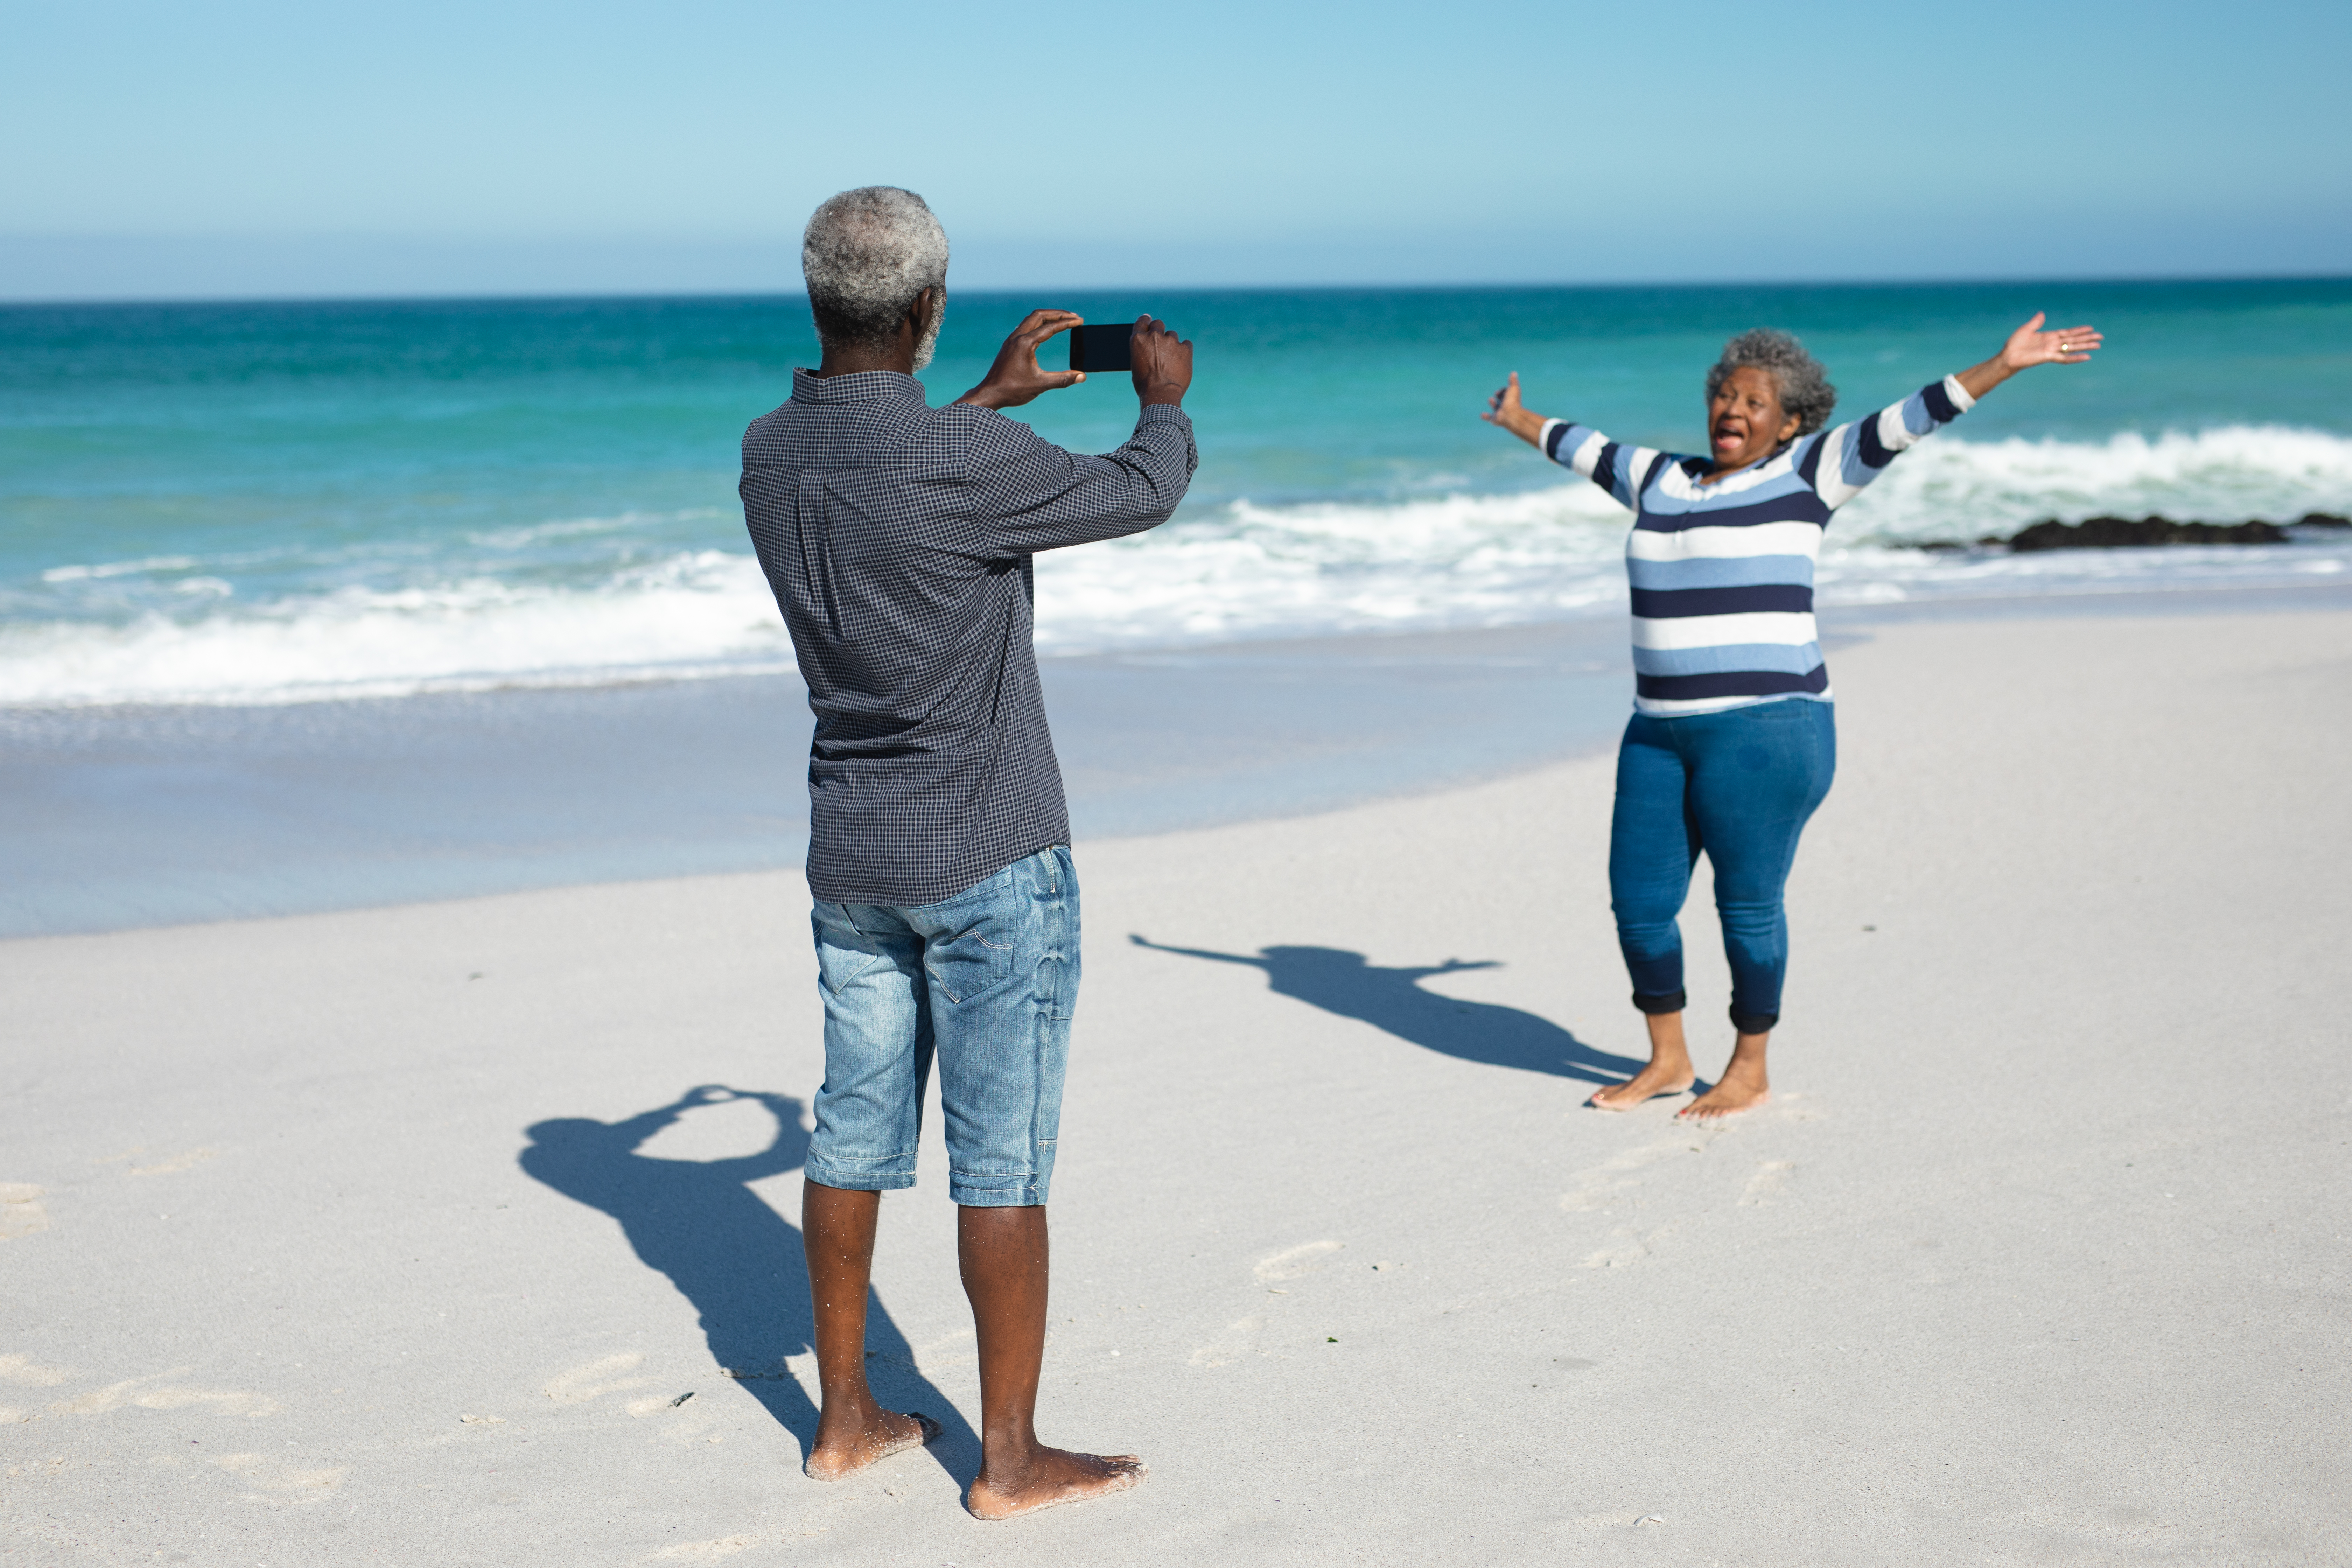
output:
<instances>
[{"instance_id":1,"label":"man's dark gray checkered long-sleeved shirt, seen from behind","mask_svg":"<svg viewBox=\"0 0 2352 1568\"><path fill-rule=\"evenodd\" d=\"M1070 842L1030 649L1030 555L1141 534L1200 456L1152 404L1110 456L896 371L793 371L743 433L743 520L816 710L809 891L922 905Z\"/></svg>"}]
</instances>

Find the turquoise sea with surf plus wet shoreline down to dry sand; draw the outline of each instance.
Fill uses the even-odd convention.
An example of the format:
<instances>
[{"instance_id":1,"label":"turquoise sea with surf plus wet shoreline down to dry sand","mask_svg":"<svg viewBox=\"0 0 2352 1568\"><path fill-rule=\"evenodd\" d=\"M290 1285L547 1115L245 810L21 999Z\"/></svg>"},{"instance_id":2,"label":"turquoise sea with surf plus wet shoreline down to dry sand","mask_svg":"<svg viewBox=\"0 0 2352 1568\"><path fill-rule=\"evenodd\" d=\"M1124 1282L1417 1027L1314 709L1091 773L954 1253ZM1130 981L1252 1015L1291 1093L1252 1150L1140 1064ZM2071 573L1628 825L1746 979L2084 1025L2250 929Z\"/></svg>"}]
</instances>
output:
<instances>
[{"instance_id":1,"label":"turquoise sea with surf plus wet shoreline down to dry sand","mask_svg":"<svg viewBox=\"0 0 2352 1568\"><path fill-rule=\"evenodd\" d=\"M2352 282L955 296L934 400L1030 306L1197 343L1202 468L1152 534L1040 559L1080 842L1602 748L1625 515L1479 423L1691 444L1752 324L1842 414L2034 371L1839 512L1823 632L1889 616L2291 609L2352 538L1931 552L2042 517L2352 512ZM736 508L800 299L0 308L0 936L788 867L809 710ZM1122 376L1025 409L1115 447ZM2084 597L2096 595L2096 597Z\"/></svg>"}]
</instances>

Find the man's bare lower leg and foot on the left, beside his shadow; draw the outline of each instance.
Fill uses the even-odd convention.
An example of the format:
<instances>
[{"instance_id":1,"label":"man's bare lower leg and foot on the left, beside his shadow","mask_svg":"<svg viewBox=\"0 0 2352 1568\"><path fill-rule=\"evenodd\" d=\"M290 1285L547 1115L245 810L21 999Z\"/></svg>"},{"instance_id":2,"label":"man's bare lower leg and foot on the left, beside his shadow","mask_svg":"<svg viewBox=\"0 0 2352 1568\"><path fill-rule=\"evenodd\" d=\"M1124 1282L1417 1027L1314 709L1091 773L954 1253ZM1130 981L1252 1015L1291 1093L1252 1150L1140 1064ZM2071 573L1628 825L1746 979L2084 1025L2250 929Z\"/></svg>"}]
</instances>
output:
<instances>
[{"instance_id":1,"label":"man's bare lower leg and foot on the left, beside his shadow","mask_svg":"<svg viewBox=\"0 0 2352 1568\"><path fill-rule=\"evenodd\" d=\"M873 1281L880 1213L880 1192L809 1180L800 1185L809 1305L816 1312L816 1382L826 1401L802 1467L816 1481L840 1481L938 1436L938 1422L884 1410L866 1387L866 1288Z\"/></svg>"}]
</instances>

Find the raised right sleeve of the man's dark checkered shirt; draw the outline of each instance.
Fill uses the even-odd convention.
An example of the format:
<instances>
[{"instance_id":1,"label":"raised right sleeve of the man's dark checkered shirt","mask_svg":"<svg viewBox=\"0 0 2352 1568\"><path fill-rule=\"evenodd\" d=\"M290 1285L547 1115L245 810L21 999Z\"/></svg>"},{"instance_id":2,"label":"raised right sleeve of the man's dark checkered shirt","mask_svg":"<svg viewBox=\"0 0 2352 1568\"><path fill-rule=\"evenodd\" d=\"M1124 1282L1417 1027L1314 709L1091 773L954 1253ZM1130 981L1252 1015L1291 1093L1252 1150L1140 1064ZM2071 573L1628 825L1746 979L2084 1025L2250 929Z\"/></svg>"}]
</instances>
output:
<instances>
[{"instance_id":1,"label":"raised right sleeve of the man's dark checkered shirt","mask_svg":"<svg viewBox=\"0 0 2352 1568\"><path fill-rule=\"evenodd\" d=\"M1192 418L1167 402L1145 404L1127 444L1103 456L1063 451L1018 421L981 414L967 480L981 545L995 557L1152 529L1169 520L1200 468Z\"/></svg>"}]
</instances>

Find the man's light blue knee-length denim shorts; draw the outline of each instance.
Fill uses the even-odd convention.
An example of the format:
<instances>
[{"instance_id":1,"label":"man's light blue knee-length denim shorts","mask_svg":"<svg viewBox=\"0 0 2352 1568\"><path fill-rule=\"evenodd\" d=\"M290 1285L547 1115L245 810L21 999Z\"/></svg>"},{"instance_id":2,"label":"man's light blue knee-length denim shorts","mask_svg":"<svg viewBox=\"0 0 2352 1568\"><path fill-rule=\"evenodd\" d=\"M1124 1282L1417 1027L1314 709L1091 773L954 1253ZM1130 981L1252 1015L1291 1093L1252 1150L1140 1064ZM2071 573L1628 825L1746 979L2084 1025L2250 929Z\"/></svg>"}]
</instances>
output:
<instances>
[{"instance_id":1,"label":"man's light blue knee-length denim shorts","mask_svg":"<svg viewBox=\"0 0 2352 1568\"><path fill-rule=\"evenodd\" d=\"M915 1185L922 1093L938 1056L948 1197L1047 1201L1077 1004L1077 870L1056 844L941 903L816 900L826 1084L809 1180Z\"/></svg>"}]
</instances>

